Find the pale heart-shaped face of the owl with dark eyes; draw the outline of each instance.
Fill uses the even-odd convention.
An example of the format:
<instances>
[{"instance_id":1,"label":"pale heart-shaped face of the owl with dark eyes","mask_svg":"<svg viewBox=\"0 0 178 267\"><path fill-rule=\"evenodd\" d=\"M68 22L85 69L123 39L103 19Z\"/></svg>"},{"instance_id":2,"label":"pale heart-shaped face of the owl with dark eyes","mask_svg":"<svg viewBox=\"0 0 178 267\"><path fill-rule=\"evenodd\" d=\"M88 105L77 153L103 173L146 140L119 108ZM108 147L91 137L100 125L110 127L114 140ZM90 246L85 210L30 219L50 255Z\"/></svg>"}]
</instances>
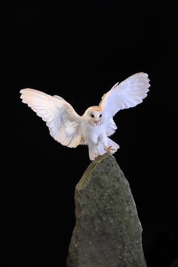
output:
<instances>
[{"instance_id":1,"label":"pale heart-shaped face of the owl with dark eyes","mask_svg":"<svg viewBox=\"0 0 178 267\"><path fill-rule=\"evenodd\" d=\"M104 111L103 109L96 110L89 109L87 111L87 120L93 127L100 126L104 122Z\"/></svg>"}]
</instances>

